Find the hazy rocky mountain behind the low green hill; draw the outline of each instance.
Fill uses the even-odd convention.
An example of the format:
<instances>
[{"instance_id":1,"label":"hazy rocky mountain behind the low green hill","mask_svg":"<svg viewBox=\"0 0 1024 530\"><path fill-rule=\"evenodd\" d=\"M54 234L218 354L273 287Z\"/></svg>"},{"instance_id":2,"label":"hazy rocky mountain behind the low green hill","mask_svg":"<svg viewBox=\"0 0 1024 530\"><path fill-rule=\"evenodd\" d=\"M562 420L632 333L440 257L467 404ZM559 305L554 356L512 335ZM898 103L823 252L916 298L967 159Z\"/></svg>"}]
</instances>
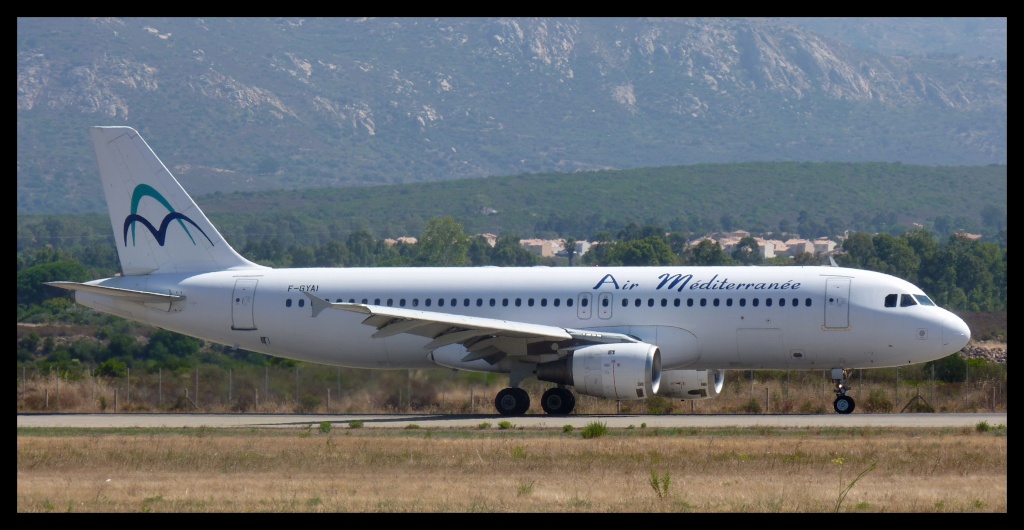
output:
<instances>
[{"instance_id":1,"label":"hazy rocky mountain behind the low green hill","mask_svg":"<svg viewBox=\"0 0 1024 530\"><path fill-rule=\"evenodd\" d=\"M196 195L745 162L1007 163L1007 18L17 18L18 214L87 129ZM735 190L732 190L735 192Z\"/></svg>"}]
</instances>

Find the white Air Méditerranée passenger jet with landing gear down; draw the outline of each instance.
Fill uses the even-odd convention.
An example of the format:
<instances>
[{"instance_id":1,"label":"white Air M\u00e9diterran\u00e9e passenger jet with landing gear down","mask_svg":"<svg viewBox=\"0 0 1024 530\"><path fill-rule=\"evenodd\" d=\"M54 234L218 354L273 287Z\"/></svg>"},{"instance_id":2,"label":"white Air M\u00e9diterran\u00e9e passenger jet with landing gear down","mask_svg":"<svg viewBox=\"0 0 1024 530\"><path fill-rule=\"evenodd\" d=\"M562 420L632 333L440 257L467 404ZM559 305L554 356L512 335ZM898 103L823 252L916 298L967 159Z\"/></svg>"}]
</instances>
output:
<instances>
[{"instance_id":1,"label":"white Air M\u00e9diterran\u00e9e passenger jet with landing gear down","mask_svg":"<svg viewBox=\"0 0 1024 530\"><path fill-rule=\"evenodd\" d=\"M221 236L130 127L90 128L122 274L48 284L97 311L327 365L508 374L495 408L575 394L703 400L726 370L822 370L836 412L853 369L939 359L971 330L903 279L835 266L270 268Z\"/></svg>"}]
</instances>

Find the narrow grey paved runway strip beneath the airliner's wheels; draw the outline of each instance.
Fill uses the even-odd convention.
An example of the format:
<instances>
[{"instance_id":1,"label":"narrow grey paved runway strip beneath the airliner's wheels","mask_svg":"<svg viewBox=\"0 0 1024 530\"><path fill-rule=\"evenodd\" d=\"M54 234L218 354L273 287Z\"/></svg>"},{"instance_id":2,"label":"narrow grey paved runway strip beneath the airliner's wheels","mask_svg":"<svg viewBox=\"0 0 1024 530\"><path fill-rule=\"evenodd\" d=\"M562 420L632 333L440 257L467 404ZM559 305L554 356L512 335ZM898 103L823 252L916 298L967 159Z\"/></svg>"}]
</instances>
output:
<instances>
[{"instance_id":1,"label":"narrow grey paved runway strip beneath the airliner's wheels","mask_svg":"<svg viewBox=\"0 0 1024 530\"><path fill-rule=\"evenodd\" d=\"M521 429L581 429L593 423L611 429L843 429L843 428L973 428L984 422L990 427L1007 426L1006 412L910 413L910 414L609 414L565 415L528 414L17 414L18 429L255 429L318 427L328 422L348 427L361 422L368 429L480 429L483 424L497 429L503 422Z\"/></svg>"}]
</instances>

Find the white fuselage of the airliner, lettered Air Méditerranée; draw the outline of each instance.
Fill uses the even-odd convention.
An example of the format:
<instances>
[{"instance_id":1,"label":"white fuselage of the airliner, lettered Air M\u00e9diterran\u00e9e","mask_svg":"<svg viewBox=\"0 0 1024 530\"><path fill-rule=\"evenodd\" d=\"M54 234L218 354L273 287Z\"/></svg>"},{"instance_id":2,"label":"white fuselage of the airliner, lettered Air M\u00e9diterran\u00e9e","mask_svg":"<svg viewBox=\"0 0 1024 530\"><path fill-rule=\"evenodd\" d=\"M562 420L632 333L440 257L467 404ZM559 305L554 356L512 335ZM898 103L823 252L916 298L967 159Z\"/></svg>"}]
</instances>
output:
<instances>
[{"instance_id":1,"label":"white fuselage of the airliner, lettered Air M\u00e9diterran\u00e9e","mask_svg":"<svg viewBox=\"0 0 1024 530\"><path fill-rule=\"evenodd\" d=\"M100 311L214 343L366 368L436 367L429 338L373 338L367 315L313 316L304 292L351 302L626 334L665 369L899 366L958 351L970 332L899 278L839 267L302 268L148 274L92 283L184 296L143 305L79 292ZM963 342L961 342L963 341ZM489 369L483 361L458 366Z\"/></svg>"}]
</instances>

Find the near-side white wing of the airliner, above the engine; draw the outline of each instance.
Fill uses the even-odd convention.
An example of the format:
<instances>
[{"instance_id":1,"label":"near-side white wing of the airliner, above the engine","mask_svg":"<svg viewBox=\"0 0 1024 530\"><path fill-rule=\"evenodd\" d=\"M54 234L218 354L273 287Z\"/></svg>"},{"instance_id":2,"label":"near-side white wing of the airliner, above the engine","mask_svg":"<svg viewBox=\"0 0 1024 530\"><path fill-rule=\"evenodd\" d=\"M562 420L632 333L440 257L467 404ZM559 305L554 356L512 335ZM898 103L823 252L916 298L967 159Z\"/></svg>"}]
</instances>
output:
<instances>
[{"instance_id":1,"label":"near-side white wing of the airliner, above the engine","mask_svg":"<svg viewBox=\"0 0 1024 530\"><path fill-rule=\"evenodd\" d=\"M487 359L497 362L505 355L552 354L581 345L639 342L623 334L370 304L332 303L309 293L305 295L312 302L314 317L326 309L362 313L368 315L362 323L377 328L374 338L398 334L426 337L431 339L423 347L428 351L462 344L469 351L463 361Z\"/></svg>"}]
</instances>

